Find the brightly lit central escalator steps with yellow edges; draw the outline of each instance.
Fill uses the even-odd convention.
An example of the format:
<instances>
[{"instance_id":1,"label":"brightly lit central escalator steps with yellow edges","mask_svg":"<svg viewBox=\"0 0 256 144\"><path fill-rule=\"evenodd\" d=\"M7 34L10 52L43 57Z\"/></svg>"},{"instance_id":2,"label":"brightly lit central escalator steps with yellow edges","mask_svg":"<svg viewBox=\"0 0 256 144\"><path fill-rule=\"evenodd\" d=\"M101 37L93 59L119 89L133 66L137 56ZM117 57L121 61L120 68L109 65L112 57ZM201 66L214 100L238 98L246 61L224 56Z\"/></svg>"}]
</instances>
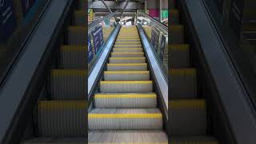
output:
<instances>
[{"instance_id":1,"label":"brightly lit central escalator steps with yellow edges","mask_svg":"<svg viewBox=\"0 0 256 144\"><path fill-rule=\"evenodd\" d=\"M136 26L122 26L88 111L89 143L168 143Z\"/></svg>"}]
</instances>

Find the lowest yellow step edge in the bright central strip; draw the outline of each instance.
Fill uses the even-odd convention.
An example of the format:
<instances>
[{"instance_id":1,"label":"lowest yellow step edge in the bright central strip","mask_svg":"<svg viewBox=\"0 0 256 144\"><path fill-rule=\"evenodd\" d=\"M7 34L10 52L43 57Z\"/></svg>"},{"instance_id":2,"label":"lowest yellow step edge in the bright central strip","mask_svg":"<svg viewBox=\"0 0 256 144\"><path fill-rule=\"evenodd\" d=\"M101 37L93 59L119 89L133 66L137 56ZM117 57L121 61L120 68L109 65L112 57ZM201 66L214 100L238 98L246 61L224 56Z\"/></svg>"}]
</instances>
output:
<instances>
[{"instance_id":1,"label":"lowest yellow step edge in the bright central strip","mask_svg":"<svg viewBox=\"0 0 256 144\"><path fill-rule=\"evenodd\" d=\"M88 114L88 118L162 118L162 114Z\"/></svg>"}]
</instances>

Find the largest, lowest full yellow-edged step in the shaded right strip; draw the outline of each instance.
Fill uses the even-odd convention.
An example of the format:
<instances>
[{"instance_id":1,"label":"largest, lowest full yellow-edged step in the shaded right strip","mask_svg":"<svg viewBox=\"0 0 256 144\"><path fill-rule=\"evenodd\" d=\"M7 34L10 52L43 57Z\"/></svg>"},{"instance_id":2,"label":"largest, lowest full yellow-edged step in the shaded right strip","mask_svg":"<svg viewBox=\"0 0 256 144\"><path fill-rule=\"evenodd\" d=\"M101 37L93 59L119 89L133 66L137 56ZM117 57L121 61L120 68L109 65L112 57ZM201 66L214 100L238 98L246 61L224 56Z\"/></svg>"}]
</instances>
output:
<instances>
[{"instance_id":1,"label":"largest, lowest full yellow-edged step in the shaded right strip","mask_svg":"<svg viewBox=\"0 0 256 144\"><path fill-rule=\"evenodd\" d=\"M203 99L177 99L169 103L171 135L206 134L206 102Z\"/></svg>"}]
</instances>

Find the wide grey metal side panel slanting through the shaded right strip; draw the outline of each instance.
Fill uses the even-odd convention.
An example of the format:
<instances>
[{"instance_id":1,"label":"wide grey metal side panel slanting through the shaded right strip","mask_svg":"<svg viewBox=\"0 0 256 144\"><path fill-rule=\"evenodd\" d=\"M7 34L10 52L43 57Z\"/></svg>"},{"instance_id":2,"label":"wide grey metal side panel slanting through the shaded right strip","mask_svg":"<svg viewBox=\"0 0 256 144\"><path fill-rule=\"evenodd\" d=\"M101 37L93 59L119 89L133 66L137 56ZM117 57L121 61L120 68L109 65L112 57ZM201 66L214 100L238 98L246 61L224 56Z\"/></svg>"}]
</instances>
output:
<instances>
[{"instance_id":1,"label":"wide grey metal side panel slanting through the shaded right strip","mask_svg":"<svg viewBox=\"0 0 256 144\"><path fill-rule=\"evenodd\" d=\"M222 109L228 119L234 141L241 144L254 144L256 142L254 114L247 102L245 90L238 81L237 72L226 54L222 40L201 1L184 0L182 2L197 32L202 53L216 83L218 99L222 102Z\"/></svg>"}]
</instances>

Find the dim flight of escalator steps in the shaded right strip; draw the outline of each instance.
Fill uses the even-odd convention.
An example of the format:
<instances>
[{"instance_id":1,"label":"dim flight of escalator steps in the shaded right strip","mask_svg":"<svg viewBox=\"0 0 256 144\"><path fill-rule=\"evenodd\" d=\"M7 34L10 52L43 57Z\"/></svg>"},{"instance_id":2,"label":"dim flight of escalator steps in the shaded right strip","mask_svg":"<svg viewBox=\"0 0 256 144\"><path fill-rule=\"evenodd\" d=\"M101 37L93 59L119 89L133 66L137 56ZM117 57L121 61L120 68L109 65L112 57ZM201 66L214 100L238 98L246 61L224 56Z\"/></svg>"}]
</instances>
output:
<instances>
[{"instance_id":1,"label":"dim flight of escalator steps in the shaded right strip","mask_svg":"<svg viewBox=\"0 0 256 144\"><path fill-rule=\"evenodd\" d=\"M170 10L170 143L217 144L209 132L210 120L206 99L198 92L200 76L191 62L191 46L184 38L185 26L179 23L179 10Z\"/></svg>"}]
</instances>

